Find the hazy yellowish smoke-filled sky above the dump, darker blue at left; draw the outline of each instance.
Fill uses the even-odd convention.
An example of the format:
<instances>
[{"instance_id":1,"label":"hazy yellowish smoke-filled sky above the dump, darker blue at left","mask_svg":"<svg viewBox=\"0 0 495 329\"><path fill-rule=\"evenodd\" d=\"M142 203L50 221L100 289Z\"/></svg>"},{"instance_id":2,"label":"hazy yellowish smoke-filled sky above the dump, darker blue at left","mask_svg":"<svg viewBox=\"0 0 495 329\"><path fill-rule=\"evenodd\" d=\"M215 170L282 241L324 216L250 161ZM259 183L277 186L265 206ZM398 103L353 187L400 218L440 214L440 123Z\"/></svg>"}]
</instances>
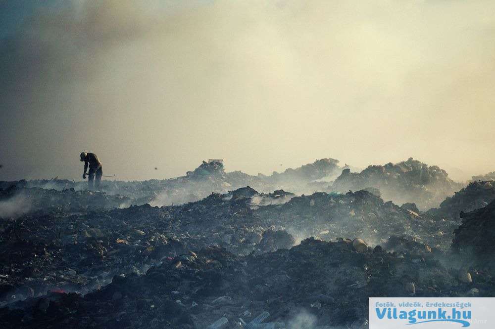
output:
<instances>
[{"instance_id":1,"label":"hazy yellowish smoke-filled sky above the dump, darker blue at left","mask_svg":"<svg viewBox=\"0 0 495 329\"><path fill-rule=\"evenodd\" d=\"M495 170L495 1L182 2L0 0L0 180Z\"/></svg>"}]
</instances>

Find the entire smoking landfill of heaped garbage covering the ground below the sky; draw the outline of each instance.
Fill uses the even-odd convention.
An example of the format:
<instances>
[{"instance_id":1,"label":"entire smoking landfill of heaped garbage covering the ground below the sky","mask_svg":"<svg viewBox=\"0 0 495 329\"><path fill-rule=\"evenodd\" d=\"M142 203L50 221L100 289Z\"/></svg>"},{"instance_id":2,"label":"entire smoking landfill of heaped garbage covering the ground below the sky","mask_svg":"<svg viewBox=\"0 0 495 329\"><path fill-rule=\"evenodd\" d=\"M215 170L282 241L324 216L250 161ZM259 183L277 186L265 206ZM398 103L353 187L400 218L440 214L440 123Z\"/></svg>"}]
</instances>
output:
<instances>
[{"instance_id":1,"label":"entire smoking landfill of heaped garbage covering the ground below the sky","mask_svg":"<svg viewBox=\"0 0 495 329\"><path fill-rule=\"evenodd\" d=\"M318 181L343 169L323 159L249 176L210 161L103 192L0 182L0 324L366 328L369 296L495 295L490 182L441 203L456 185L411 159ZM160 195L178 202L148 204Z\"/></svg>"}]
</instances>

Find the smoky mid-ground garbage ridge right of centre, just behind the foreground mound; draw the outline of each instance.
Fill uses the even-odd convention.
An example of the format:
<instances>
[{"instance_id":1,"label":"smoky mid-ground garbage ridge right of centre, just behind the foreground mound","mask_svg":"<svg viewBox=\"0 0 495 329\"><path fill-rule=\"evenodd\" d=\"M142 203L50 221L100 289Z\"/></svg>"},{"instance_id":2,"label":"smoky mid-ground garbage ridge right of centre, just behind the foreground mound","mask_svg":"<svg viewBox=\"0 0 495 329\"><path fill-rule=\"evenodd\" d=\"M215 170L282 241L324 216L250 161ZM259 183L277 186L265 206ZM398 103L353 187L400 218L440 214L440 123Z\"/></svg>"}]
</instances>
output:
<instances>
[{"instance_id":1,"label":"smoky mid-ground garbage ridge right of centre, just behind the foreground mound","mask_svg":"<svg viewBox=\"0 0 495 329\"><path fill-rule=\"evenodd\" d=\"M416 208L413 204L410 207ZM281 206L260 207L254 214L262 222L267 221L301 239L353 236L377 245L391 235L410 235L443 250L449 248L451 232L458 226L453 221L433 220L426 214L384 202L368 191L314 193L295 197Z\"/></svg>"}]
</instances>

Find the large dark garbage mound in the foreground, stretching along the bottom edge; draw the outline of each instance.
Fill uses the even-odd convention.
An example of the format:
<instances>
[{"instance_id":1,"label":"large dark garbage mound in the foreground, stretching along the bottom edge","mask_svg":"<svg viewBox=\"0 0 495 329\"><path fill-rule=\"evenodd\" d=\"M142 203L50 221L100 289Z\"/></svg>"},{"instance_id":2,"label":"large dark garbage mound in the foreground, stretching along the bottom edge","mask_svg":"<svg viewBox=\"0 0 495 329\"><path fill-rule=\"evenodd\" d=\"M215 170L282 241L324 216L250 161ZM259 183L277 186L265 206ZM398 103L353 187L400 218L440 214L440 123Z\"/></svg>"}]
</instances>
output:
<instances>
[{"instance_id":1,"label":"large dark garbage mound in the foreground, stretching along the bottom edge","mask_svg":"<svg viewBox=\"0 0 495 329\"><path fill-rule=\"evenodd\" d=\"M291 249L238 256L187 252L146 275L116 275L82 296L51 293L0 309L4 328L367 328L368 297L493 295L433 256L358 250L353 241L306 239ZM265 327L256 327L264 323ZM269 326L269 327L268 327Z\"/></svg>"}]
</instances>

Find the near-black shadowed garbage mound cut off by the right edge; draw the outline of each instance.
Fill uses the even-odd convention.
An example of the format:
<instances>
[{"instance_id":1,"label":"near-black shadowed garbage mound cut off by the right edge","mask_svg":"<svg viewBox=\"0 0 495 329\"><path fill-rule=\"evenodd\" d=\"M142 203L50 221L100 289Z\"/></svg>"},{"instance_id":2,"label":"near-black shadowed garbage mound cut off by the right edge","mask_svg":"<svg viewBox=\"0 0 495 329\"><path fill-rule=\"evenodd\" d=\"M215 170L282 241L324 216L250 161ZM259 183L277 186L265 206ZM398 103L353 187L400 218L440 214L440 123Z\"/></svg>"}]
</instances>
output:
<instances>
[{"instance_id":1,"label":"near-black shadowed garbage mound cut off by the right edge","mask_svg":"<svg viewBox=\"0 0 495 329\"><path fill-rule=\"evenodd\" d=\"M460 216L462 224L454 231L452 249L473 266L495 274L495 201Z\"/></svg>"}]
</instances>

